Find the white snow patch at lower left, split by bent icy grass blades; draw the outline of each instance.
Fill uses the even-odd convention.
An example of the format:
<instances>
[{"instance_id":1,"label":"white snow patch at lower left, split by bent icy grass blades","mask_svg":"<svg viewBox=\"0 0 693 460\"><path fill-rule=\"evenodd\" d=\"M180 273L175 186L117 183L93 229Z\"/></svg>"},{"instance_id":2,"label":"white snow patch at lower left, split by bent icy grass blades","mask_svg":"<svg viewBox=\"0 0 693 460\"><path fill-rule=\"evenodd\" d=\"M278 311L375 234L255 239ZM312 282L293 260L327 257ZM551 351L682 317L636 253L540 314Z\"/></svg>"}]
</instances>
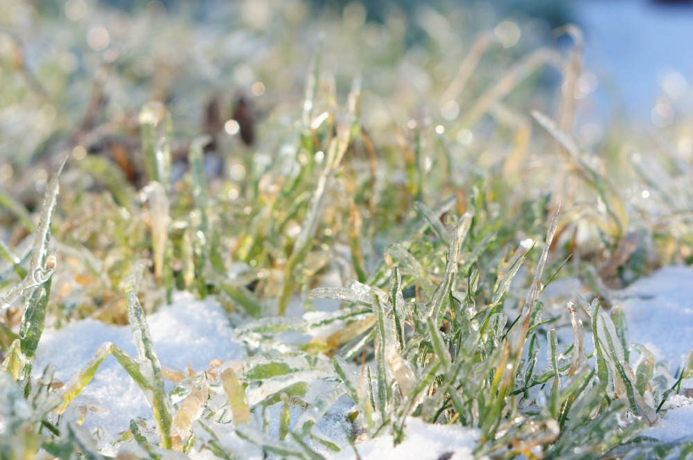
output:
<instances>
[{"instance_id":1,"label":"white snow patch at lower left, split by bent icy grass blades","mask_svg":"<svg viewBox=\"0 0 693 460\"><path fill-rule=\"evenodd\" d=\"M195 371L201 371L214 359L227 361L247 356L245 348L234 341L225 312L212 301L199 301L192 294L177 292L172 305L148 315L147 321L162 366L188 369L189 363ZM109 326L83 319L58 330L44 331L34 372L40 374L46 365L54 364L55 378L67 382L104 342L113 342L130 356L137 355L130 326ZM170 391L173 384L166 382L166 390ZM144 394L112 356L105 358L77 400L99 411L89 412L84 423L88 430L105 430L99 448L110 448L107 442L128 430L130 420L152 418Z\"/></svg>"}]
</instances>

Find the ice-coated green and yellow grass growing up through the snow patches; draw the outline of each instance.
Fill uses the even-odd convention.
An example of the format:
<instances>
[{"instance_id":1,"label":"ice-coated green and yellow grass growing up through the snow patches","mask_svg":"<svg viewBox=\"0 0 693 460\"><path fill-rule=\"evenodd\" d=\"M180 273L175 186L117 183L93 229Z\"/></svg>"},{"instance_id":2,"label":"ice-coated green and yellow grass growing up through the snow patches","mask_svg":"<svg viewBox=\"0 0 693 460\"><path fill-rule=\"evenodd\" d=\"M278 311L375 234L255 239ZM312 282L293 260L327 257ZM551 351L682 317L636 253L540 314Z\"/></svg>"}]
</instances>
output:
<instances>
[{"instance_id":1,"label":"ice-coated green and yellow grass growing up through the snow patches","mask_svg":"<svg viewBox=\"0 0 693 460\"><path fill-rule=\"evenodd\" d=\"M211 127L213 105L204 129L183 116L179 122L155 102L144 105L137 120L123 115L90 130L103 115L96 104L70 148L98 152L99 142L112 143L107 152L69 160L59 201L61 159L46 184L38 224L21 200L0 190L19 235L0 246L0 281L8 288L0 320L1 457L44 450L60 458L102 458L81 426L87 412L72 402L108 354L152 408L155 436L133 420L113 443L136 445L140 458L199 448L222 459L243 458L247 452L229 445L222 425L265 454L324 458L340 447L316 425L344 394L355 404L340 418L349 443L358 432L391 434L401 443L407 420L419 417L477 430L475 455L493 459L654 458L685 451L685 445L639 435L658 423L693 362L672 387L647 348L629 343L623 312L608 305L604 285L623 285L660 263L692 257L685 226L690 193L669 190L636 167L632 177L659 195L650 218L644 206L628 204L629 192L610 174L625 163L609 165L573 138L570 88L581 39L568 31L576 44L569 58L553 48L527 57L491 53L494 35L480 35L455 78L416 96L432 107L435 123L445 123L443 132L434 131L428 116L405 117L413 106L394 96L391 120L374 121L373 97L362 95L362 87L386 94L389 89L368 76L393 65L377 53L364 57L364 78L350 78L340 104L347 78L321 67L325 55L336 54L322 44L302 105L277 109L261 123L267 141L252 150ZM342 35L356 46L349 40L359 34ZM159 40L152 38L164 46ZM395 55L395 47L383 53ZM504 64L495 81L489 76L498 76L500 53L514 64ZM431 66L444 59L430 54ZM532 112L550 136L533 132L522 114L532 80L546 65L565 70L569 89L557 101L558 121ZM426 65L417 69L434 73ZM265 83L274 82L268 77ZM94 100L100 91L96 85ZM459 107L459 121L437 116L446 103ZM297 123L290 128L283 118ZM64 129L55 127L56 136ZM140 156L123 157L120 141L103 132L121 136ZM472 132L472 145L453 141ZM240 157L234 164L243 167L243 177L208 175L206 159L215 152ZM555 166L556 158L565 168ZM186 161L188 173L174 180L175 161ZM547 192L563 186L551 180L557 170L572 186L560 215L560 197ZM681 182L681 168L667 172L669 182ZM639 233L629 231L633 225ZM578 227L588 234L580 245ZM534 247L543 247L541 254ZM342 288L320 287L329 273ZM581 278L593 301L577 296L572 300L581 310L568 302L567 314L544 319L540 294L561 276ZM68 303L62 291L51 291L53 278L71 286L77 300ZM251 356L191 375L161 369L146 312L170 302L174 289L220 301ZM24 307L12 306L21 296ZM301 316L314 298L342 301L342 308ZM106 343L62 387L50 366L38 376L33 360L46 318L60 326L82 317L130 324L137 357ZM590 354L583 321L591 330ZM326 326L334 328L328 336L321 333ZM572 328L572 344L559 342L561 326ZM284 343L288 331L314 338ZM541 350L544 336L547 349ZM544 352L548 364L536 369ZM296 381L282 383L288 375ZM175 382L168 394L164 378ZM249 389L258 388L264 397L251 405Z\"/></svg>"}]
</instances>

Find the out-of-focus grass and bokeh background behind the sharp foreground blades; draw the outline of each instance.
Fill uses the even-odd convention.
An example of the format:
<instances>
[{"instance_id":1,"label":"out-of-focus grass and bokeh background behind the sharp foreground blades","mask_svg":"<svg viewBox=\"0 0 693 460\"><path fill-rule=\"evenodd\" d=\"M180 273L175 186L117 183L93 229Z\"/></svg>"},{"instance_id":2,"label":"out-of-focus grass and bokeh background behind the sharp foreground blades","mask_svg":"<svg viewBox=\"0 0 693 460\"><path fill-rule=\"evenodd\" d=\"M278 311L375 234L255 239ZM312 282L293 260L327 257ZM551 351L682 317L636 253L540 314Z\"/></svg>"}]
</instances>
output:
<instances>
[{"instance_id":1,"label":"out-of-focus grass and bokeh background behind the sharp foreground blades","mask_svg":"<svg viewBox=\"0 0 693 460\"><path fill-rule=\"evenodd\" d=\"M495 244L507 249L543 238L562 202L559 245L588 280L597 266L622 286L693 263L690 1L0 0L0 12L0 237L11 247L69 154L57 239L107 260L117 281L151 256L143 191L159 176L144 158L157 155L176 282L190 288L182 230L201 215L188 164L199 143L195 180L222 221L220 254L258 276L243 287L288 299L317 165L336 133L358 128L322 227L305 227L316 244L304 292L360 244L351 258L376 263L415 202L450 195L457 215L473 203L486 230L505 226ZM340 267L354 278L351 262Z\"/></svg>"}]
</instances>

